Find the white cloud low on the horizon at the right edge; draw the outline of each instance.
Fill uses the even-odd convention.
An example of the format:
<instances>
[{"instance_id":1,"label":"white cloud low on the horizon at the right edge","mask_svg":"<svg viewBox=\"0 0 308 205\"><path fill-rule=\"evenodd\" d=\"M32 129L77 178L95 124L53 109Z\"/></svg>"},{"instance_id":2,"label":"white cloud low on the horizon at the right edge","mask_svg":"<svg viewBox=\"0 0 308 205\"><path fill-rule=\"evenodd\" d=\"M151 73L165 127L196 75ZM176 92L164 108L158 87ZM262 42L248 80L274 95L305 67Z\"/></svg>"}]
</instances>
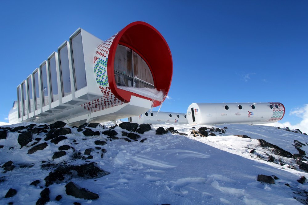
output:
<instances>
[{"instance_id":1,"label":"white cloud low on the horizon at the right edge","mask_svg":"<svg viewBox=\"0 0 308 205\"><path fill-rule=\"evenodd\" d=\"M289 127L291 130L299 129L300 131L306 132L306 134L308 134L308 104L305 104L304 107L291 110L290 115L296 115L297 117L301 118L302 119L301 122L294 125L292 125L290 122L285 122L285 123L276 122L266 125L274 127Z\"/></svg>"}]
</instances>

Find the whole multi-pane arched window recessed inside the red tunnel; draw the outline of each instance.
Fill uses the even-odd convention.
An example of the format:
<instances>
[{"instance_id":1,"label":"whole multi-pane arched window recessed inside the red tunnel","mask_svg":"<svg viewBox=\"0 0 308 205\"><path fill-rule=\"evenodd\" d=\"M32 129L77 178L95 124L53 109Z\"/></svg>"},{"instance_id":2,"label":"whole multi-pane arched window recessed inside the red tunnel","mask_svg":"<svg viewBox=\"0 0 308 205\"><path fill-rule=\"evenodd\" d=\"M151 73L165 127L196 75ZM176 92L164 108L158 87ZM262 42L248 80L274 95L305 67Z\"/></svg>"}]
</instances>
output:
<instances>
[{"instance_id":1,"label":"whole multi-pane arched window recessed inside the red tunnel","mask_svg":"<svg viewBox=\"0 0 308 205\"><path fill-rule=\"evenodd\" d=\"M117 46L114 74L117 86L155 88L148 64L139 54L126 46Z\"/></svg>"}]
</instances>

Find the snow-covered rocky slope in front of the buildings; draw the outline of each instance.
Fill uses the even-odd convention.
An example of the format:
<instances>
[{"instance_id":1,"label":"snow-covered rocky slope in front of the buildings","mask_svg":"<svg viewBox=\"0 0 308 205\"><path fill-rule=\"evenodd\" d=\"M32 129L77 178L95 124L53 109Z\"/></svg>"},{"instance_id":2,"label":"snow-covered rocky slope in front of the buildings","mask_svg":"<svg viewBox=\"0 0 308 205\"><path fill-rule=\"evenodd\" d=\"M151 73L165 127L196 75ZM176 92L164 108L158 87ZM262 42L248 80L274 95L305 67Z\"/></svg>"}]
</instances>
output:
<instances>
[{"instance_id":1,"label":"snow-covered rocky slope in front of the buildings","mask_svg":"<svg viewBox=\"0 0 308 205\"><path fill-rule=\"evenodd\" d=\"M112 123L103 125L113 126ZM110 174L94 179L66 176L63 181L48 186L50 200L46 204L78 202L186 205L308 202L308 185L305 181L303 184L298 182L302 176L308 178L308 174L298 163L299 159L307 163L305 152L308 151L308 140L307 135L299 132L260 125L230 124L217 126L220 130L207 129L209 134L213 133L216 136L202 137L191 134L192 129L198 131L202 126L192 128L188 124L154 124L152 130L143 135L136 133L141 137L138 141L127 142L121 139L127 138L121 134L122 131L129 131L115 127L114 130L118 133L115 137L120 139L111 139L102 134L108 130L107 127L91 128L93 131L99 131L99 136L84 136L85 128L78 132L77 128L69 127L72 133L64 135L67 139L58 144L52 143L51 140L45 141L44 135L47 133L40 132L39 135L33 135L33 141L22 148L18 143L20 133L8 132L6 139L0 139L0 166L11 160L15 167L12 171L0 168L0 204L35 204L46 187L44 179L51 171L55 171L59 166L91 162L97 163L97 167ZM174 127L187 136L170 131L156 135L158 127ZM224 127L226 128L222 131ZM251 139L234 135L247 135ZM47 147L27 154L28 150L35 146L31 144L39 140L34 140L36 138L41 138L38 144L47 143ZM142 139L145 139L144 142L141 142ZM282 156L273 147L261 147L257 139L263 139L291 154L298 154L298 149L304 151L304 154L301 152L299 159ZM97 145L97 140L107 144ZM54 153L63 145L69 145L74 149L65 150L66 155L53 159ZM94 150L91 151L92 159L84 154L85 150L90 148ZM101 148L106 149L106 153L103 153ZM78 152L81 153L80 156L84 156L83 159L72 157ZM50 167L42 168L44 164L50 164ZM276 176L275 183L257 181L258 175ZM36 186L30 185L35 180L39 180L40 183ZM70 181L98 194L99 198L85 200L67 195L65 186ZM15 189L17 194L4 198L10 188ZM55 200L58 195L62 196L59 201Z\"/></svg>"}]
</instances>

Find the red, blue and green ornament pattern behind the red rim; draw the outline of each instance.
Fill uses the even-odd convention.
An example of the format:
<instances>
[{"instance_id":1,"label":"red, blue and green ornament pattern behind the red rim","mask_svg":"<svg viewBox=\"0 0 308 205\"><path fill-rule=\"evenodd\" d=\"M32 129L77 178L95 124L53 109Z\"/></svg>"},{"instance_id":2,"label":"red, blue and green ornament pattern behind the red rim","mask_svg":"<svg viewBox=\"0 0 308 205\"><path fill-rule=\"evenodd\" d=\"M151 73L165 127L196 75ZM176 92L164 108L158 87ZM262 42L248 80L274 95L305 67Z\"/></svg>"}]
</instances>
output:
<instances>
[{"instance_id":1,"label":"red, blue and green ornament pattern behind the red rim","mask_svg":"<svg viewBox=\"0 0 308 205\"><path fill-rule=\"evenodd\" d=\"M82 104L81 106L87 111L96 112L124 104L124 102L116 98L111 92L107 75L108 54L110 51L110 46L116 35L117 33L101 43L95 51L95 56L93 59L94 73L99 89L103 93L103 97Z\"/></svg>"}]
</instances>

